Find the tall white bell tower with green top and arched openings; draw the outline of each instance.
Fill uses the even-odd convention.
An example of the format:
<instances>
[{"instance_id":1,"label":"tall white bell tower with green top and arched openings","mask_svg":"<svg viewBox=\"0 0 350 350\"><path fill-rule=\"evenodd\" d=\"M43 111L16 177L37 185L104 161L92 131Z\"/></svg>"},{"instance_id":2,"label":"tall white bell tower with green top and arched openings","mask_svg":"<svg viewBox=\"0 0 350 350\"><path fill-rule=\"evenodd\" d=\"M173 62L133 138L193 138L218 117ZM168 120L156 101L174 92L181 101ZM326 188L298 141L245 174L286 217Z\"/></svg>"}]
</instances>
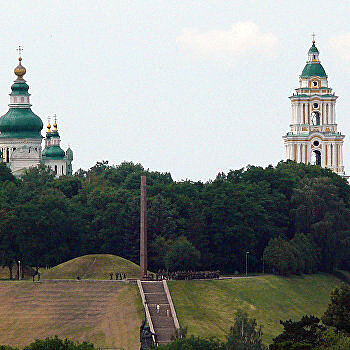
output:
<instances>
[{"instance_id":1,"label":"tall white bell tower with green top and arched openings","mask_svg":"<svg viewBox=\"0 0 350 350\"><path fill-rule=\"evenodd\" d=\"M337 96L328 85L328 76L315 40L308 51L299 87L289 97L292 104L290 131L283 137L286 159L319 165L344 176L344 135L337 130Z\"/></svg>"}]
</instances>

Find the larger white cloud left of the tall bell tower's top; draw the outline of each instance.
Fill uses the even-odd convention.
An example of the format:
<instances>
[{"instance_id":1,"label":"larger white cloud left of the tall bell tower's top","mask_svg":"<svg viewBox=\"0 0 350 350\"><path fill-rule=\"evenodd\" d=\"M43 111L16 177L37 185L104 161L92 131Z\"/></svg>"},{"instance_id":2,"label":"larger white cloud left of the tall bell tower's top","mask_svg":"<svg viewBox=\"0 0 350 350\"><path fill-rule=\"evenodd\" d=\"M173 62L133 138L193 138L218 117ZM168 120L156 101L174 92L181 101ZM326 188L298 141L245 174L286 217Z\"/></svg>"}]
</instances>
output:
<instances>
[{"instance_id":1,"label":"larger white cloud left of the tall bell tower's top","mask_svg":"<svg viewBox=\"0 0 350 350\"><path fill-rule=\"evenodd\" d=\"M273 33L262 32L254 22L237 22L228 30L184 29L177 42L195 53L221 58L250 54L272 56L278 48L278 38Z\"/></svg>"}]
</instances>

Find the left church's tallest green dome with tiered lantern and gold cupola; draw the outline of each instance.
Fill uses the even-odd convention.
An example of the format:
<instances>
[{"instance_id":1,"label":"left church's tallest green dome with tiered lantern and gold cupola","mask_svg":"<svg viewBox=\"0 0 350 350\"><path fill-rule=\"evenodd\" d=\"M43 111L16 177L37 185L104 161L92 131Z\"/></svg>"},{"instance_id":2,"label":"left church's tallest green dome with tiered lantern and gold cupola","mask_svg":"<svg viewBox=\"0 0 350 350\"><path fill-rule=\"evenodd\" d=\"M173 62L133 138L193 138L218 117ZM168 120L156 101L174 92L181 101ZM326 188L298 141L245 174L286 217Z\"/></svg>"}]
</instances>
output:
<instances>
[{"instance_id":1,"label":"left church's tallest green dome with tiered lantern and gold cupola","mask_svg":"<svg viewBox=\"0 0 350 350\"><path fill-rule=\"evenodd\" d=\"M0 118L0 138L42 138L43 122L34 114L29 103L29 86L23 79L26 69L22 58L15 68L17 79L11 86L8 112Z\"/></svg>"}]
</instances>

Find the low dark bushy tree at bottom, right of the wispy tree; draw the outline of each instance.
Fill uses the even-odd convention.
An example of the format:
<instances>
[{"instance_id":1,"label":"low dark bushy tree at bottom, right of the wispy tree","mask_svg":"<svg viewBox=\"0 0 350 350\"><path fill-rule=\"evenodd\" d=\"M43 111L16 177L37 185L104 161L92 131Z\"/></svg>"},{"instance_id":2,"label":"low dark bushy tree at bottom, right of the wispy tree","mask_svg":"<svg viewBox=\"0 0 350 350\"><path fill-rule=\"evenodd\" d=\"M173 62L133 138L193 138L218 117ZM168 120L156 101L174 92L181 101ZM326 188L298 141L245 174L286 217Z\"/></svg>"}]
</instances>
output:
<instances>
[{"instance_id":1,"label":"low dark bushy tree at bottom, right of the wispy tree","mask_svg":"<svg viewBox=\"0 0 350 350\"><path fill-rule=\"evenodd\" d=\"M317 344L318 332L323 331L324 327L320 324L320 319L315 316L303 316L300 321L280 321L283 326L283 332L273 339L274 344L292 342ZM271 347L271 349L279 349L278 347Z\"/></svg>"}]
</instances>

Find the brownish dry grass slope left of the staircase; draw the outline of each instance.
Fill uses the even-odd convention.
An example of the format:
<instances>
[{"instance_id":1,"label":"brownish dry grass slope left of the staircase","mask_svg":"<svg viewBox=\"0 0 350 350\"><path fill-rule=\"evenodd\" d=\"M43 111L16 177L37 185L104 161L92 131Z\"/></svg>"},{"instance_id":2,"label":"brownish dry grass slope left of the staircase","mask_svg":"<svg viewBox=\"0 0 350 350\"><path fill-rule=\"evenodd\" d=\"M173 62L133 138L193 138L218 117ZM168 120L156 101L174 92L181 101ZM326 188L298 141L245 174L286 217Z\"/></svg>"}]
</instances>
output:
<instances>
[{"instance_id":1,"label":"brownish dry grass slope left of the staircase","mask_svg":"<svg viewBox=\"0 0 350 350\"><path fill-rule=\"evenodd\" d=\"M135 350L143 306L122 281L0 281L0 344L22 348L58 335Z\"/></svg>"}]
</instances>

